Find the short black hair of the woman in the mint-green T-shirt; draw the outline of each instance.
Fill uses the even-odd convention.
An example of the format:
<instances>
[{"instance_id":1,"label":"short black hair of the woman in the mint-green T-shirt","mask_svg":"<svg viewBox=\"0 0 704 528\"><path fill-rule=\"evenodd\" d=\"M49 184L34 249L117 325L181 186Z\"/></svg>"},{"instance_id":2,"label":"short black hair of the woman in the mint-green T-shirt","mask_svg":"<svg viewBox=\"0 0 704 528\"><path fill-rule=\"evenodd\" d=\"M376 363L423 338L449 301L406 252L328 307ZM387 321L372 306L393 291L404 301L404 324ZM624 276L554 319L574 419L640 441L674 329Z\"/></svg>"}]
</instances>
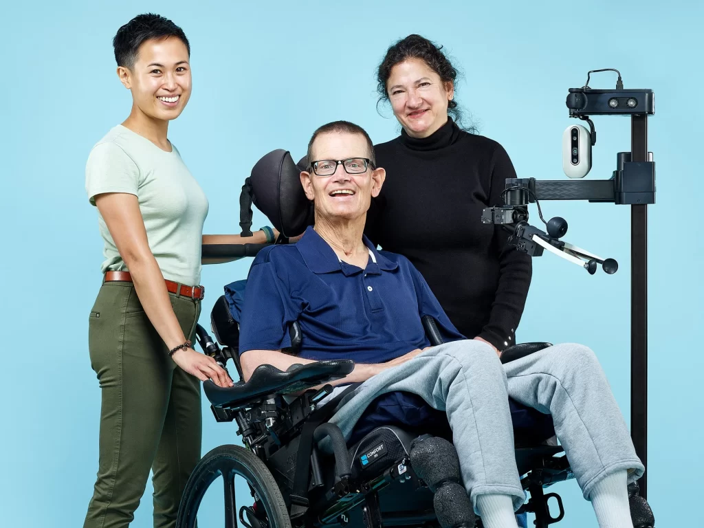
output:
<instances>
[{"instance_id":1,"label":"short black hair of the woman in the mint-green T-shirt","mask_svg":"<svg viewBox=\"0 0 704 528\"><path fill-rule=\"evenodd\" d=\"M188 55L191 56L191 44L189 44L183 30L172 23L168 18L153 13L145 13L132 18L130 22L120 27L113 38L113 49L115 49L115 61L118 66L134 68L137 62L139 46L151 39L165 39L176 37L181 39L186 45Z\"/></svg>"}]
</instances>

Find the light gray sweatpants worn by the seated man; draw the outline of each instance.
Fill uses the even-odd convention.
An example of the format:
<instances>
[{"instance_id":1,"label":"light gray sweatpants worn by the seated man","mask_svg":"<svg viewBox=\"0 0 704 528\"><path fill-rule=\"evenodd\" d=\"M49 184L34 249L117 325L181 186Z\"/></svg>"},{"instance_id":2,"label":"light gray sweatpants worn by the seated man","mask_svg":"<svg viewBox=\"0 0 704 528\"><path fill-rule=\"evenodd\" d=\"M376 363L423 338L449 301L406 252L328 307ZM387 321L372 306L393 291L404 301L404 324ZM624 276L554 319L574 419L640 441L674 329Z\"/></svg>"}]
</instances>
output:
<instances>
[{"instance_id":1,"label":"light gray sweatpants worn by the seated man","mask_svg":"<svg viewBox=\"0 0 704 528\"><path fill-rule=\"evenodd\" d=\"M631 470L629 482L643 474L601 365L586 346L551 346L505 365L482 341L434 346L361 384L330 422L348 439L365 408L391 391L413 392L446 411L475 510L482 494L513 496L516 509L525 501L515 464L509 396L553 416L584 498L608 474Z\"/></svg>"}]
</instances>

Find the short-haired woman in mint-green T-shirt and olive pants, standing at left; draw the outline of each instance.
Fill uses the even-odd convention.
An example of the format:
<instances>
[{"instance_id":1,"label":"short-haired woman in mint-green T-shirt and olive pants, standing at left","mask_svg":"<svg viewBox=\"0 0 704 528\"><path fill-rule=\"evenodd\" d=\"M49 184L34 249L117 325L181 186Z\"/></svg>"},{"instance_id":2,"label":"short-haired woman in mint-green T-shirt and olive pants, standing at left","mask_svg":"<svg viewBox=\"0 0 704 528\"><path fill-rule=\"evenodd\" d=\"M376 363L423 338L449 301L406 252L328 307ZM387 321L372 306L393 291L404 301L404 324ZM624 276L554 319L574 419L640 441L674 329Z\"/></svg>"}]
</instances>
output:
<instances>
[{"instance_id":1,"label":"short-haired woman in mint-green T-shirt and olive pants, standing at left","mask_svg":"<svg viewBox=\"0 0 704 528\"><path fill-rule=\"evenodd\" d=\"M100 382L99 471L86 528L127 527L153 470L154 526L174 527L201 458L200 382L232 380L191 341L201 313L201 244L208 201L168 139L191 95L190 44L159 15L139 15L113 40L132 111L90 152L86 190L98 209L103 284L90 312ZM270 228L246 241L273 241Z\"/></svg>"}]
</instances>

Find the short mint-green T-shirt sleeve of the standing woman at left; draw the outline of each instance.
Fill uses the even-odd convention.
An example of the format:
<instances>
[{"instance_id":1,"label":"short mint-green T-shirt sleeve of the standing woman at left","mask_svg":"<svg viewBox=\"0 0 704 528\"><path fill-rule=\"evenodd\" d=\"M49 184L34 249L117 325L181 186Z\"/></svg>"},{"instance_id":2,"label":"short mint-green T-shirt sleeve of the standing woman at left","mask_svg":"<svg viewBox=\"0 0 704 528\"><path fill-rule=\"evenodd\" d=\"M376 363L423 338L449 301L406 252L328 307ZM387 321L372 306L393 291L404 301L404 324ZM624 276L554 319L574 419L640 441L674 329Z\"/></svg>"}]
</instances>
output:
<instances>
[{"instance_id":1,"label":"short mint-green T-shirt sleeve of the standing woman at left","mask_svg":"<svg viewBox=\"0 0 704 528\"><path fill-rule=\"evenodd\" d=\"M95 196L105 192L124 192L137 196L139 167L114 143L93 147L86 163L86 193L92 205Z\"/></svg>"}]
</instances>

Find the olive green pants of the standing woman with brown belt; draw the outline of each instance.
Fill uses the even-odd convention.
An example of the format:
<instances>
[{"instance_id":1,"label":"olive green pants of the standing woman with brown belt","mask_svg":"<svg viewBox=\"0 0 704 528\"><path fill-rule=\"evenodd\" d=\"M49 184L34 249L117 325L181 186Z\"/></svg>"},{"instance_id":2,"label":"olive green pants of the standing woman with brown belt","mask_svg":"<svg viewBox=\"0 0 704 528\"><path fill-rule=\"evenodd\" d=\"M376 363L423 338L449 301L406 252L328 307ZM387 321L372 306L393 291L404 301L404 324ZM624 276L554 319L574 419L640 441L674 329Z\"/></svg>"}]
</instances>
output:
<instances>
[{"instance_id":1,"label":"olive green pants of the standing woman with brown belt","mask_svg":"<svg viewBox=\"0 0 704 528\"><path fill-rule=\"evenodd\" d=\"M200 301L170 294L193 340ZM84 528L124 528L153 471L154 527L175 527L201 457L201 386L176 366L131 282L105 282L89 317L90 360L102 395L100 459Z\"/></svg>"}]
</instances>

